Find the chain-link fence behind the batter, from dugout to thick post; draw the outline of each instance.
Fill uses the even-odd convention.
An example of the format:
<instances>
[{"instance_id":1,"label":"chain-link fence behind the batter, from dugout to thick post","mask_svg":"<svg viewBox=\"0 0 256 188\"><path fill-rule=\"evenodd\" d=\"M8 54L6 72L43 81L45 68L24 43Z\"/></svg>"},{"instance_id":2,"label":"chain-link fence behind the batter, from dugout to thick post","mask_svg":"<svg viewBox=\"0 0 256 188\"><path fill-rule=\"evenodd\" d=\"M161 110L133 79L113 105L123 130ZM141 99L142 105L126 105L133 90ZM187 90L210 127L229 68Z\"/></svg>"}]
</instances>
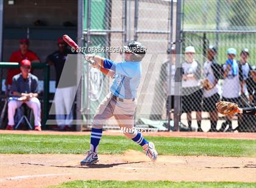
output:
<instances>
[{"instance_id":1,"label":"chain-link fence behind the batter, from dugout to thick post","mask_svg":"<svg viewBox=\"0 0 256 188\"><path fill-rule=\"evenodd\" d=\"M122 47L128 41L135 39L147 47L147 55L142 62L143 75L137 93L136 121L138 124L156 124L161 126L162 130L166 130L166 127L162 126L162 120L166 121L167 96L167 73L164 66L171 48L173 7L174 2L161 0L85 1L85 45ZM99 12L99 9L102 11ZM89 25L87 21L90 21ZM121 62L123 59L120 53L101 53L101 55L116 62ZM84 71L82 113L85 120L90 119L87 122L90 124L97 106L109 92L108 88L112 80L87 65ZM87 87L88 82L90 87ZM118 127L117 124L113 123L115 124L113 126L112 123L107 123L105 127Z\"/></svg>"}]
</instances>

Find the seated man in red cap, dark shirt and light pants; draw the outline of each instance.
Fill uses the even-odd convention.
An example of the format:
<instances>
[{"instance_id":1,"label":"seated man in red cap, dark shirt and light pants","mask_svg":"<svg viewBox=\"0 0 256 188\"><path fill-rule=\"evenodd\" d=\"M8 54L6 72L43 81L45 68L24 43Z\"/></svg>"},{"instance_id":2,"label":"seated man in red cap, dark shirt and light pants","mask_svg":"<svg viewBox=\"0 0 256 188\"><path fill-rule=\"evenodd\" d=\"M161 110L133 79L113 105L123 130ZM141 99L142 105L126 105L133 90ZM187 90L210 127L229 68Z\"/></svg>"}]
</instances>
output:
<instances>
[{"instance_id":1,"label":"seated man in red cap, dark shirt and light pants","mask_svg":"<svg viewBox=\"0 0 256 188\"><path fill-rule=\"evenodd\" d=\"M17 98L10 99L8 103L7 130L14 128L15 110L23 103L30 107L35 116L35 130L41 131L41 105L38 100L38 78L30 74L31 62L27 59L21 61L21 73L13 76L11 95Z\"/></svg>"}]
</instances>

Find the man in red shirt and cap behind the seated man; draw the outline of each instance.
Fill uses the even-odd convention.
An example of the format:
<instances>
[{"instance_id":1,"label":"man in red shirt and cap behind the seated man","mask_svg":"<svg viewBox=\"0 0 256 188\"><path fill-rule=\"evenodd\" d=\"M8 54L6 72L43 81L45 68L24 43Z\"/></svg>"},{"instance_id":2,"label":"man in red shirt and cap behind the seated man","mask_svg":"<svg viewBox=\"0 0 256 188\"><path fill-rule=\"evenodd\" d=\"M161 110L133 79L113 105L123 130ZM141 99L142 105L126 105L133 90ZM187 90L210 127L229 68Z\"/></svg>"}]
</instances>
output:
<instances>
[{"instance_id":1,"label":"man in red shirt and cap behind the seated man","mask_svg":"<svg viewBox=\"0 0 256 188\"><path fill-rule=\"evenodd\" d=\"M31 62L40 62L37 54L29 50L29 39L20 39L20 50L13 52L9 61L20 63L23 59L28 59ZM10 86L12 86L13 76L19 73L21 73L21 70L18 68L7 70L6 86L8 90L10 90Z\"/></svg>"}]
</instances>

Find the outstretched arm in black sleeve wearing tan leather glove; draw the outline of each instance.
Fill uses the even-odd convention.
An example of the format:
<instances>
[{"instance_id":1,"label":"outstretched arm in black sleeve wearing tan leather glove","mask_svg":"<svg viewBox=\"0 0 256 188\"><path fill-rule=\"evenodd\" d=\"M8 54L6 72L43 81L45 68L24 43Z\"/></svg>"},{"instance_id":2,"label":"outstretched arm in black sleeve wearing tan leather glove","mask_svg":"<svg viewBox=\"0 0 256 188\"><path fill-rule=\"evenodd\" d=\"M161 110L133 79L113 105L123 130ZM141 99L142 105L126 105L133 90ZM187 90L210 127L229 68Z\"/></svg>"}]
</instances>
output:
<instances>
[{"instance_id":1,"label":"outstretched arm in black sleeve wearing tan leather glove","mask_svg":"<svg viewBox=\"0 0 256 188\"><path fill-rule=\"evenodd\" d=\"M243 113L245 115L256 115L256 107L240 108L233 102L219 101L216 108L222 115L230 115L233 113Z\"/></svg>"}]
</instances>

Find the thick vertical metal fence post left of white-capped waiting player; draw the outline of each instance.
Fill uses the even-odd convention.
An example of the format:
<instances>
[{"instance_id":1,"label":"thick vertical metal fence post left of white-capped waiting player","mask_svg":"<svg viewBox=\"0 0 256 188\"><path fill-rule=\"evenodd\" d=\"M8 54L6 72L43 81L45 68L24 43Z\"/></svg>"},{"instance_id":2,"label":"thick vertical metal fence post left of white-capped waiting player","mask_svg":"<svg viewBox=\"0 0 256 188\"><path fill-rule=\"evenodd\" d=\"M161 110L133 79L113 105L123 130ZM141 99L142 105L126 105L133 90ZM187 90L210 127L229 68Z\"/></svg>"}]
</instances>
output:
<instances>
[{"instance_id":1,"label":"thick vertical metal fence post left of white-capped waiting player","mask_svg":"<svg viewBox=\"0 0 256 188\"><path fill-rule=\"evenodd\" d=\"M181 18L182 18L182 1L177 1L176 9L176 75L175 75L175 95L174 95L174 129L179 131L181 115L181 69L180 69L180 47L181 47Z\"/></svg>"}]
</instances>

